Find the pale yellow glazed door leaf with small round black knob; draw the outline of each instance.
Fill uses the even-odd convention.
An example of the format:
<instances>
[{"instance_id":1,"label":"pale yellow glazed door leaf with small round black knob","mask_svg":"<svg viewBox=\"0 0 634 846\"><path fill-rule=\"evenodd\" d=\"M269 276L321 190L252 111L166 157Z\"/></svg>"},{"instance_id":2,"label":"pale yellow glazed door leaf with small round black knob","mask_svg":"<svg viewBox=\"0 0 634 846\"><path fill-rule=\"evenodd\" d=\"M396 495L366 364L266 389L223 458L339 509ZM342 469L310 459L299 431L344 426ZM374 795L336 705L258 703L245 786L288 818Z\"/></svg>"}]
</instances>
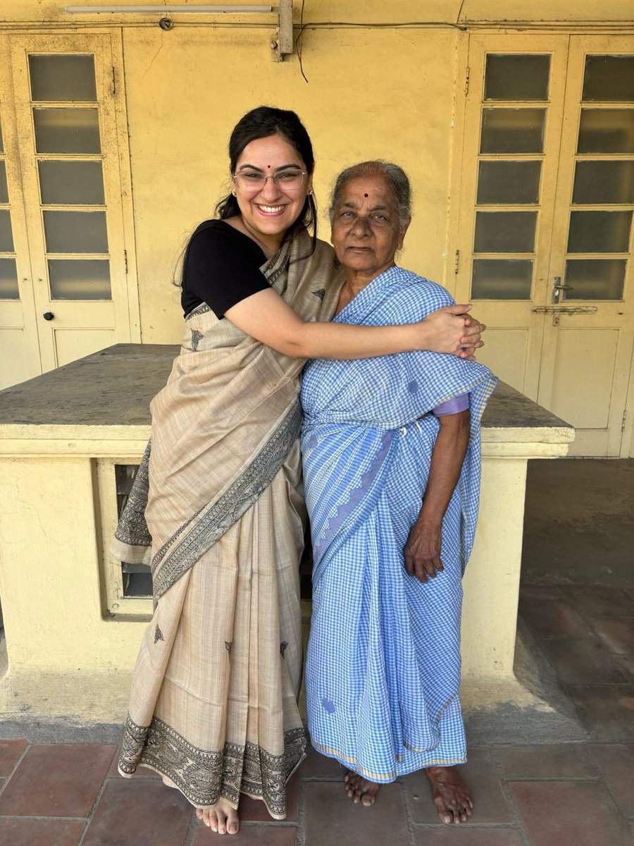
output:
<instances>
[{"instance_id":1,"label":"pale yellow glazed door leaf with small round black knob","mask_svg":"<svg viewBox=\"0 0 634 846\"><path fill-rule=\"evenodd\" d=\"M46 371L139 340L130 319L138 302L129 238L128 250L124 243L129 192L117 58L110 34L8 38L28 239L23 260L30 264L32 320ZM13 382L21 375L16 369Z\"/></svg>"}]
</instances>

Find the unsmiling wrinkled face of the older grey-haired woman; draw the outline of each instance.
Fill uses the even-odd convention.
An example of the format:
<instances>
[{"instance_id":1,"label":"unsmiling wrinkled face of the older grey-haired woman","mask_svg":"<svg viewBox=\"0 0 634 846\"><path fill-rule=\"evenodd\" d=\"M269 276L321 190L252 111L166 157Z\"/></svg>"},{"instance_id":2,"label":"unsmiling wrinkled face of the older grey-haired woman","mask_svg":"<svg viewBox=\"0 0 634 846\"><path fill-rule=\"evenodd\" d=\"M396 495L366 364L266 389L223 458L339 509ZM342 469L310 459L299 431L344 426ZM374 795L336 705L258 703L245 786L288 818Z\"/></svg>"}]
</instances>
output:
<instances>
[{"instance_id":1,"label":"unsmiling wrinkled face of the older grey-haired woman","mask_svg":"<svg viewBox=\"0 0 634 846\"><path fill-rule=\"evenodd\" d=\"M394 264L406 229L385 179L358 177L344 186L335 207L331 243L343 266L369 280Z\"/></svg>"}]
</instances>

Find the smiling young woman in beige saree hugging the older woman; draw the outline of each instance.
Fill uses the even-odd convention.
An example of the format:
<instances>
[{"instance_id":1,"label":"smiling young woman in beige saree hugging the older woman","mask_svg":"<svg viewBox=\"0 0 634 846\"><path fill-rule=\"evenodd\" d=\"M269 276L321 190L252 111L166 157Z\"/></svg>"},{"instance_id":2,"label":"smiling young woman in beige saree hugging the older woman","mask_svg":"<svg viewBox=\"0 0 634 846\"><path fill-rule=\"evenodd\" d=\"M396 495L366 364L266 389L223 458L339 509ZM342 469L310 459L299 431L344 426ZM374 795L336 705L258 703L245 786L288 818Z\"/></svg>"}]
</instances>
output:
<instances>
[{"instance_id":1,"label":"smiling young woman in beige saree hugging the older woman","mask_svg":"<svg viewBox=\"0 0 634 846\"><path fill-rule=\"evenodd\" d=\"M150 766L214 831L240 793L286 816L303 760L298 559L304 506L299 373L309 357L413 349L469 357L469 306L410 326L329 322L339 288L314 229L314 157L295 113L260 107L229 142L232 194L183 266L185 328L112 548L151 563L146 630L119 771ZM151 550L151 552L150 552Z\"/></svg>"}]
</instances>

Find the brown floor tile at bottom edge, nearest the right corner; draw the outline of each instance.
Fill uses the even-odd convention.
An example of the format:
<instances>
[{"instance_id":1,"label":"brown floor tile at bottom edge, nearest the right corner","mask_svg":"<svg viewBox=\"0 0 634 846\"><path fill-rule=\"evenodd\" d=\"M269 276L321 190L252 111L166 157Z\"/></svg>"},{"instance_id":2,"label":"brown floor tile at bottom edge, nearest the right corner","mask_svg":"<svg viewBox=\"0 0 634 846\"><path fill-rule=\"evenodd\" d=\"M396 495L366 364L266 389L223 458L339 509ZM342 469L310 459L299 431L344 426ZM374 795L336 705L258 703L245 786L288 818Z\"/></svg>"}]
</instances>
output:
<instances>
[{"instance_id":1,"label":"brown floor tile at bottom edge, nearest the right corner","mask_svg":"<svg viewBox=\"0 0 634 846\"><path fill-rule=\"evenodd\" d=\"M597 782L510 782L531 846L631 846L609 794Z\"/></svg>"}]
</instances>

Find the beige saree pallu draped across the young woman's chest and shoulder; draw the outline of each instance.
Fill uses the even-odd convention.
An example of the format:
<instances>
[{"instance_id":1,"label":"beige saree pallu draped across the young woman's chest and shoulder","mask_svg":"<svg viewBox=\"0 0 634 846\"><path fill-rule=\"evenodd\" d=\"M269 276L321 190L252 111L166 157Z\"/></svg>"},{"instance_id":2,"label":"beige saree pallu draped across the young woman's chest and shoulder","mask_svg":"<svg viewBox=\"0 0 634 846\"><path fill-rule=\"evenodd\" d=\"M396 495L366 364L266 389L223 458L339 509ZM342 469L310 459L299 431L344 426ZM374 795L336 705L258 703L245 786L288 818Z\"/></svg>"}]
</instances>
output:
<instances>
[{"instance_id":1,"label":"beige saree pallu draped across the young woman's chest and shoulder","mask_svg":"<svg viewBox=\"0 0 634 846\"><path fill-rule=\"evenodd\" d=\"M307 321L335 307L331 249L308 259L303 232L260 269ZM250 338L208 305L185 321L181 353L150 404L152 437L111 551L151 563L161 596L252 505L281 468L301 422L292 359ZM151 553L150 553L151 547Z\"/></svg>"}]
</instances>

